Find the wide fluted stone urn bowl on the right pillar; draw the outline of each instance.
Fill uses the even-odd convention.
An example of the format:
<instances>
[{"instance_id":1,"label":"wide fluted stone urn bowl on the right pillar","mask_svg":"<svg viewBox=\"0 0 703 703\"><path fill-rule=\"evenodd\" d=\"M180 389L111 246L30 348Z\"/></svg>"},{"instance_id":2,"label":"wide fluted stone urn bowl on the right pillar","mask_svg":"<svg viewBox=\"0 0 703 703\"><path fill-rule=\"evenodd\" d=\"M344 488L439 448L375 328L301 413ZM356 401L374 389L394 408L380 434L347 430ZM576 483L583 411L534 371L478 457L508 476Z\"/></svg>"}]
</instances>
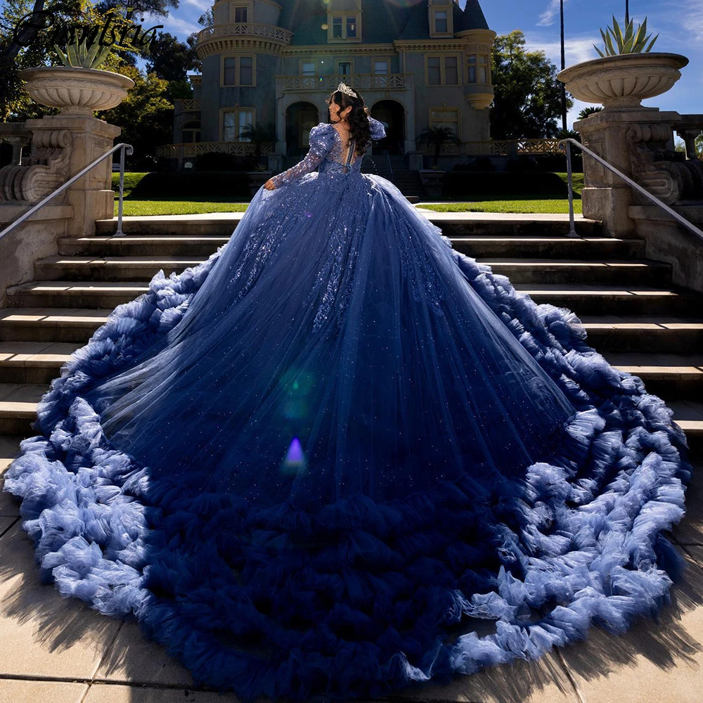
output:
<instances>
[{"instance_id":1,"label":"wide fluted stone urn bowl on the right pillar","mask_svg":"<svg viewBox=\"0 0 703 703\"><path fill-rule=\"evenodd\" d=\"M688 58L678 53L624 53L569 66L557 76L584 103L606 110L640 108L647 98L666 93L681 78Z\"/></svg>"}]
</instances>

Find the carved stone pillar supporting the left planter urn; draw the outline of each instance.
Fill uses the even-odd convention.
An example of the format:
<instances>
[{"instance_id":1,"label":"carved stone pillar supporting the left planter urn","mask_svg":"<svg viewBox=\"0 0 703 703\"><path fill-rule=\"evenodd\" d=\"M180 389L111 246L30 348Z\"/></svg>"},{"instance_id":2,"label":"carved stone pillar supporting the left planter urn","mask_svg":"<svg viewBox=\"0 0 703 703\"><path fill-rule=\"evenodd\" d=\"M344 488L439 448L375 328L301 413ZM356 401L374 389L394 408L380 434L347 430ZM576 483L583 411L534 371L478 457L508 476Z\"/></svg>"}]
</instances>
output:
<instances>
[{"instance_id":1,"label":"carved stone pillar supporting the left planter urn","mask_svg":"<svg viewBox=\"0 0 703 703\"><path fill-rule=\"evenodd\" d=\"M33 139L49 131L70 133L67 178L63 182L110 150L122 131L114 124L84 115L51 115L41 120L27 120L25 124L32 131ZM67 226L67 236L93 235L96 219L112 219L114 201L112 158L108 157L69 188L66 202L73 207L73 217Z\"/></svg>"}]
</instances>

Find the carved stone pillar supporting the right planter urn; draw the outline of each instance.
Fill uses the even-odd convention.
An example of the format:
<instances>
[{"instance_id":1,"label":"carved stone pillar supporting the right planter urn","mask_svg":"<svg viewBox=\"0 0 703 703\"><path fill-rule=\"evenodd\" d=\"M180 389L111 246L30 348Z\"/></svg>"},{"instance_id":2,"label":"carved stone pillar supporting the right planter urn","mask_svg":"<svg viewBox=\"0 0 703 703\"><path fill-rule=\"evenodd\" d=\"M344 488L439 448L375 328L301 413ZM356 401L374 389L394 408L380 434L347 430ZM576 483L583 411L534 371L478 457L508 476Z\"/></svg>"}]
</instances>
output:
<instances>
[{"instance_id":1,"label":"carved stone pillar supporting the right planter urn","mask_svg":"<svg viewBox=\"0 0 703 703\"><path fill-rule=\"evenodd\" d=\"M659 108L607 109L575 122L574 129L581 134L583 146L638 183L646 167L636 145L649 141L646 135L651 134L661 143L666 132L666 146L673 151L673 125L680 119L678 112L660 112ZM583 172L583 216L601 220L611 236L635 236L636 224L628 207L641 202L641 196L635 196L625 181L586 154ZM659 193L654 195L659 197Z\"/></svg>"}]
</instances>

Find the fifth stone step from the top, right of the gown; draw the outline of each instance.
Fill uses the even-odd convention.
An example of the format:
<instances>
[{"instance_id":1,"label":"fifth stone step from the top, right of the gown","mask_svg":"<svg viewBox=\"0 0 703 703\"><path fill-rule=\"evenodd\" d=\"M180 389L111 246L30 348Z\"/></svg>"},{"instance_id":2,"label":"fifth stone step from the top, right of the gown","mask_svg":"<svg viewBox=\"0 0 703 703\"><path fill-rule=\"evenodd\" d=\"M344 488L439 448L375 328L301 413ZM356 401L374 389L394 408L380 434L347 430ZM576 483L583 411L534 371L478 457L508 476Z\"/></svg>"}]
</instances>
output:
<instances>
[{"instance_id":1,"label":"fifth stone step from the top, right of the gown","mask_svg":"<svg viewBox=\"0 0 703 703\"><path fill-rule=\"evenodd\" d=\"M703 348L703 319L656 315L581 316L588 344L598 352L696 354Z\"/></svg>"}]
</instances>

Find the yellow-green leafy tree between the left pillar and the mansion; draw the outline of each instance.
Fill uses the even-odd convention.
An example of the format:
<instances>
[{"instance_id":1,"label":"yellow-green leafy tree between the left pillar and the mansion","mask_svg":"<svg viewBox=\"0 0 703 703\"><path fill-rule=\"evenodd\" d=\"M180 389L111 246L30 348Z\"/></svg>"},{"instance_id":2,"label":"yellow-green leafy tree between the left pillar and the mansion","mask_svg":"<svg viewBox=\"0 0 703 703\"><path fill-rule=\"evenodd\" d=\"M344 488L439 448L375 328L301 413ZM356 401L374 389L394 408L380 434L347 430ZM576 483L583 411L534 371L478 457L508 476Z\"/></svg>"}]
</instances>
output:
<instances>
[{"instance_id":1,"label":"yellow-green leafy tree between the left pillar and the mansion","mask_svg":"<svg viewBox=\"0 0 703 703\"><path fill-rule=\"evenodd\" d=\"M134 146L127 157L131 168L151 168L156 163L155 147L172 141L173 103L168 98L169 84L154 73L143 75L130 65L116 70L134 81L134 88L112 110L98 112L103 120L122 128L119 140Z\"/></svg>"}]
</instances>

